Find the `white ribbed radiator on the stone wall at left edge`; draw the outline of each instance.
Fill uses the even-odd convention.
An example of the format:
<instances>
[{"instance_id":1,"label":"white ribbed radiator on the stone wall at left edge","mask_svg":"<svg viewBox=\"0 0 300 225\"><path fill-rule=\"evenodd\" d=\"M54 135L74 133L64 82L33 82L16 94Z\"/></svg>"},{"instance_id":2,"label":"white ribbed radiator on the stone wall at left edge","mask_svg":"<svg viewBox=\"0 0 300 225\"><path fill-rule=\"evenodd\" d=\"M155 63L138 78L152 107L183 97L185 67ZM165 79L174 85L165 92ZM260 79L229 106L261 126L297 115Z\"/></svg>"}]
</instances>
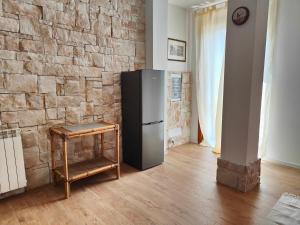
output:
<instances>
[{"instance_id":1,"label":"white ribbed radiator on the stone wall at left edge","mask_svg":"<svg viewBox=\"0 0 300 225\"><path fill-rule=\"evenodd\" d=\"M20 129L0 131L0 194L26 187Z\"/></svg>"}]
</instances>

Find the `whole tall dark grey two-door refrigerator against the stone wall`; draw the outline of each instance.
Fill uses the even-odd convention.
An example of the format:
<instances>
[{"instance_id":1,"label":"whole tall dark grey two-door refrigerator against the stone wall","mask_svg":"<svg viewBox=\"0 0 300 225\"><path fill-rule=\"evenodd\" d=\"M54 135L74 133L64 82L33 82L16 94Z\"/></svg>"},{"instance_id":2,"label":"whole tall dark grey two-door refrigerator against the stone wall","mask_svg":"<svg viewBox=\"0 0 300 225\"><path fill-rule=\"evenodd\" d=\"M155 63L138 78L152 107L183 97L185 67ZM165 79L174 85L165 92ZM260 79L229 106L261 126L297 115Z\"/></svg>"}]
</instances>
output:
<instances>
[{"instance_id":1,"label":"whole tall dark grey two-door refrigerator against the stone wall","mask_svg":"<svg viewBox=\"0 0 300 225\"><path fill-rule=\"evenodd\" d=\"M121 74L123 161L145 170L164 161L164 72Z\"/></svg>"}]
</instances>

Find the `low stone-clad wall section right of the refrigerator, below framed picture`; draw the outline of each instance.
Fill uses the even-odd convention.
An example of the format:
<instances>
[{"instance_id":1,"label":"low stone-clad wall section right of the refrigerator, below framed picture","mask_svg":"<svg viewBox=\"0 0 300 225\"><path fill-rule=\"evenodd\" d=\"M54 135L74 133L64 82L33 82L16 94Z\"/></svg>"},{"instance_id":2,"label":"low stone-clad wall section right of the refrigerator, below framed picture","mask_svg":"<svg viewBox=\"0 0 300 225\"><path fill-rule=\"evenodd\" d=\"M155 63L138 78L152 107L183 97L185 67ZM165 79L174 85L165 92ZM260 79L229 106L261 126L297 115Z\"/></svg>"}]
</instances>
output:
<instances>
[{"instance_id":1,"label":"low stone-clad wall section right of the refrigerator, below framed picture","mask_svg":"<svg viewBox=\"0 0 300 225\"><path fill-rule=\"evenodd\" d=\"M171 74L182 75L182 93L180 101L171 101L172 79ZM192 110L192 84L191 73L168 72L168 96L167 96L167 132L168 147L185 144L190 141L191 110ZM172 137L174 129L181 130L180 134ZM175 132L176 133L176 132Z\"/></svg>"}]
</instances>

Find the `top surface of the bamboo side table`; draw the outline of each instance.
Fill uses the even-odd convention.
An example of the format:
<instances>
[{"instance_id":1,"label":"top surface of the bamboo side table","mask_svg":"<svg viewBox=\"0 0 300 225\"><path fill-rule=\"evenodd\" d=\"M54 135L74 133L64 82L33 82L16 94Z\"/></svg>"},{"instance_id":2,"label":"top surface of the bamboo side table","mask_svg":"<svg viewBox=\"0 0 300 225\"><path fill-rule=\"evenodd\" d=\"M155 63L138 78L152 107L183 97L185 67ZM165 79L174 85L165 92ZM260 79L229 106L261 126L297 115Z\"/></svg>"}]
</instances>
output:
<instances>
[{"instance_id":1,"label":"top surface of the bamboo side table","mask_svg":"<svg viewBox=\"0 0 300 225\"><path fill-rule=\"evenodd\" d=\"M105 130L116 129L119 125L107 122L95 122L89 124L76 124L67 126L54 126L50 128L50 133L55 133L61 136L72 137L80 135L88 135L90 133L101 133Z\"/></svg>"}]
</instances>

